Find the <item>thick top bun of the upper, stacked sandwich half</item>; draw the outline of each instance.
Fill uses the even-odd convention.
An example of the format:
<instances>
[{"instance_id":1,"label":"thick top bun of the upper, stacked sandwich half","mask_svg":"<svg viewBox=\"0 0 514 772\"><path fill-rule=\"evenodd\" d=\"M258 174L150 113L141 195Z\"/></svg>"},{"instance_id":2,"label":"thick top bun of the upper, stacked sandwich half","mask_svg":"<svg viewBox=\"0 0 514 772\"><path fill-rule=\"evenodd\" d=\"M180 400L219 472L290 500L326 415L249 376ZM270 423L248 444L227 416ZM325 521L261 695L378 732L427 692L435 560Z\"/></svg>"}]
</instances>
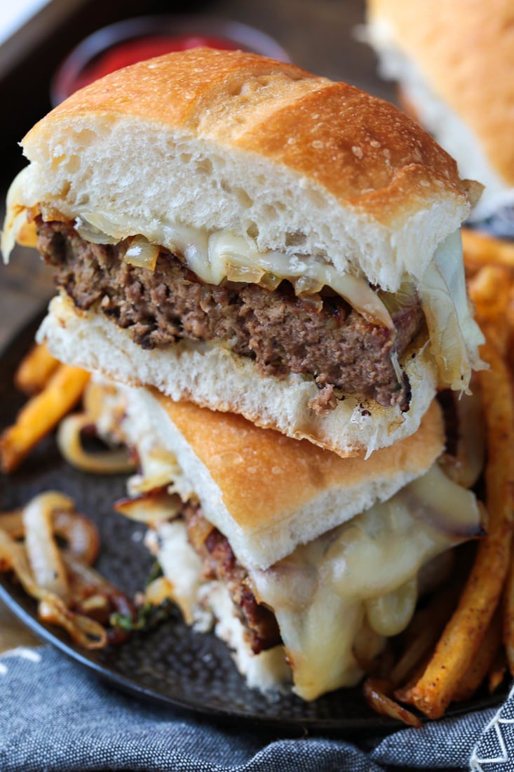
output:
<instances>
[{"instance_id":1,"label":"thick top bun of the upper, stacked sandwich half","mask_svg":"<svg viewBox=\"0 0 514 772\"><path fill-rule=\"evenodd\" d=\"M396 291L469 212L451 157L388 103L244 52L112 73L39 121L26 205L173 245L174 223L326 261ZM97 221L98 222L98 221Z\"/></svg>"}]
</instances>

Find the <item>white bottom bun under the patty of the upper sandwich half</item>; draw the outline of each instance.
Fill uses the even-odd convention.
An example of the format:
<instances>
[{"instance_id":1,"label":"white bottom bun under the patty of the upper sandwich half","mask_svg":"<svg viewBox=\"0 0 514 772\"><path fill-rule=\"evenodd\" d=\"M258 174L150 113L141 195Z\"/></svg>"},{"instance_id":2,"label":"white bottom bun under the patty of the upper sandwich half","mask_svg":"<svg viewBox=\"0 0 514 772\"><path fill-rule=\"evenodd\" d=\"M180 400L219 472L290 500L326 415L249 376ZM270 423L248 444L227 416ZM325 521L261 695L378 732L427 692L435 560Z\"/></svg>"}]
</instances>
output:
<instances>
[{"instance_id":1,"label":"white bottom bun under the patty of the upper sandwich half","mask_svg":"<svg viewBox=\"0 0 514 772\"><path fill-rule=\"evenodd\" d=\"M309 402L316 384L299 375L279 379L259 374L254 362L219 344L177 344L146 350L101 313L79 312L57 296L38 333L52 354L67 364L101 372L131 385L154 386L175 401L190 399L211 410L244 415L263 428L308 439L338 455L369 455L417 431L436 392L436 367L428 347L407 352L404 371L411 407L384 408L355 396L318 415Z\"/></svg>"}]
</instances>

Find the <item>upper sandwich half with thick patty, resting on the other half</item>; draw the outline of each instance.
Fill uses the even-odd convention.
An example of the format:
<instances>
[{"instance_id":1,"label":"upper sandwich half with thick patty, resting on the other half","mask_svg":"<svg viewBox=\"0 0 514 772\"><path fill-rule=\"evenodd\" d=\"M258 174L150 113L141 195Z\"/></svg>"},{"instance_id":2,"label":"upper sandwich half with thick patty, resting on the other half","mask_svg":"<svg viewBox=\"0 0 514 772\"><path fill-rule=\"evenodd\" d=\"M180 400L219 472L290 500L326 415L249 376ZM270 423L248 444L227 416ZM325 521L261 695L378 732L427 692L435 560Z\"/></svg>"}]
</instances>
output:
<instances>
[{"instance_id":1,"label":"upper sandwich half with thick patty, resting on the other half","mask_svg":"<svg viewBox=\"0 0 514 772\"><path fill-rule=\"evenodd\" d=\"M63 361L340 455L468 388L476 186L390 104L194 49L80 90L23 148L3 248L28 218L60 290L40 337Z\"/></svg>"}]
</instances>

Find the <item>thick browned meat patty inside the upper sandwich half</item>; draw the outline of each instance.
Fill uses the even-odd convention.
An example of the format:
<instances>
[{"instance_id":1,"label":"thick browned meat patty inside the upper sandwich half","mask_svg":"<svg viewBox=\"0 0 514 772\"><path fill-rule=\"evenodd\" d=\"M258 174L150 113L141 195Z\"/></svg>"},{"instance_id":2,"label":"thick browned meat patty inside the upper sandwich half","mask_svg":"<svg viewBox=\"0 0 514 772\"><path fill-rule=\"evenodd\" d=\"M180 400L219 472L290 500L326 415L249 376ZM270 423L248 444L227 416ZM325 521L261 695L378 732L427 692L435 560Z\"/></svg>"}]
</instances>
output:
<instances>
[{"instance_id":1,"label":"thick browned meat patty inside the upper sandwich half","mask_svg":"<svg viewBox=\"0 0 514 772\"><path fill-rule=\"evenodd\" d=\"M165 347L181 338L220 340L255 361L262 374L290 372L316 381L320 412L336 396L358 394L380 405L407 410L411 391L399 383L391 354L399 357L421 330L417 300L393 314L395 330L365 320L340 296L323 296L314 308L282 281L276 289L256 284L206 284L165 249L154 271L123 261L127 242L86 242L70 223L38 219L39 251L55 269L56 282L81 309L103 313L130 330L143 347ZM336 390L334 394L334 389Z\"/></svg>"}]
</instances>

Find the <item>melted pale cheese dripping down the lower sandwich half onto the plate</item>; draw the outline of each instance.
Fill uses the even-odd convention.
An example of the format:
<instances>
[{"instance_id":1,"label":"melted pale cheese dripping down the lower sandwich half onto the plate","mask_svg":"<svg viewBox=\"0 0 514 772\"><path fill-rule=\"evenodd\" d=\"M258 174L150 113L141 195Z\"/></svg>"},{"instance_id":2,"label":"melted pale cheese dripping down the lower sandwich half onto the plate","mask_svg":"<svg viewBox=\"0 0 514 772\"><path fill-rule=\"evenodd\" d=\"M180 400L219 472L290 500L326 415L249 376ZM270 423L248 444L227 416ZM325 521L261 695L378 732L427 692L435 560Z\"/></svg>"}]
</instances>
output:
<instances>
[{"instance_id":1,"label":"melted pale cheese dripping down the lower sandwich half onto the plate","mask_svg":"<svg viewBox=\"0 0 514 772\"><path fill-rule=\"evenodd\" d=\"M279 622L296 694L311 700L357 684L359 659L410 621L421 567L479 530L475 495L435 465L269 569L251 569L256 597Z\"/></svg>"}]
</instances>

